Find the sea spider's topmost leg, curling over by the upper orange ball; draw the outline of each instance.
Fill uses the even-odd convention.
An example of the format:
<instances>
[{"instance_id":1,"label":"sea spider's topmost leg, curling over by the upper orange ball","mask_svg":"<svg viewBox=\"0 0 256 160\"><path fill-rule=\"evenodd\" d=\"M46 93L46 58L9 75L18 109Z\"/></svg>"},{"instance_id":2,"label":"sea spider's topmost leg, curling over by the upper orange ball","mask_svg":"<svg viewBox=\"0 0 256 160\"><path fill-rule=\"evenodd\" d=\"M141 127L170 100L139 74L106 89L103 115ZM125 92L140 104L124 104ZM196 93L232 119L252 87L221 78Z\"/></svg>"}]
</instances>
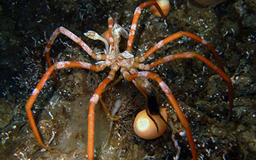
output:
<instances>
[{"instance_id":1,"label":"sea spider's topmost leg, curling over by the upper orange ball","mask_svg":"<svg viewBox=\"0 0 256 160\"><path fill-rule=\"evenodd\" d=\"M136 30L136 27L137 27L137 24L138 24L141 9L143 9L145 7L148 7L148 6L151 6L151 5L154 5L157 8L158 12L161 14L162 18L165 19L165 15L162 12L162 9L157 4L157 1L146 1L143 4L140 4L135 9L135 13L134 13L134 16L133 16L133 19L132 19L132 26L131 26L131 29L129 31L129 39L128 39L128 43L127 43L127 51L128 52L132 52L132 42L133 42L133 39L134 39L134 36L135 36L135 30Z\"/></svg>"}]
</instances>

